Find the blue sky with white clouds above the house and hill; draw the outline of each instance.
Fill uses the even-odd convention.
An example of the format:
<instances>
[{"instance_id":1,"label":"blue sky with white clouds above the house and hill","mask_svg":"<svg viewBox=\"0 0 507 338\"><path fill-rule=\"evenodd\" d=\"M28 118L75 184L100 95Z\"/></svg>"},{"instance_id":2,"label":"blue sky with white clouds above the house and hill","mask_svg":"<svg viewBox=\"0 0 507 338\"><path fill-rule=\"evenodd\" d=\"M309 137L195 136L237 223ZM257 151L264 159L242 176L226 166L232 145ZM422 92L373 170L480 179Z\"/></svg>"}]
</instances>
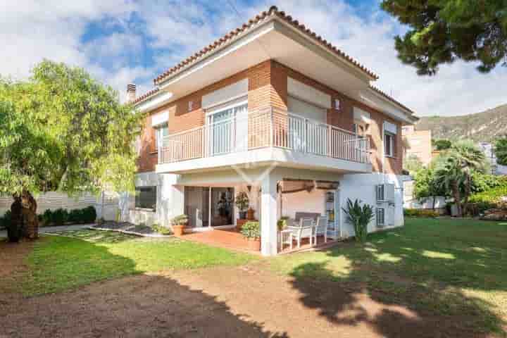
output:
<instances>
[{"instance_id":1,"label":"blue sky with white clouds above the house and hill","mask_svg":"<svg viewBox=\"0 0 507 338\"><path fill-rule=\"evenodd\" d=\"M43 4L42 4L43 3ZM507 68L483 75L473 63L445 65L418 77L396 58L405 29L380 0L18 0L0 4L0 74L26 77L42 58L86 68L125 92L151 89L158 73L270 5L286 11L380 75L374 84L418 115L461 115L507 103Z\"/></svg>"}]
</instances>

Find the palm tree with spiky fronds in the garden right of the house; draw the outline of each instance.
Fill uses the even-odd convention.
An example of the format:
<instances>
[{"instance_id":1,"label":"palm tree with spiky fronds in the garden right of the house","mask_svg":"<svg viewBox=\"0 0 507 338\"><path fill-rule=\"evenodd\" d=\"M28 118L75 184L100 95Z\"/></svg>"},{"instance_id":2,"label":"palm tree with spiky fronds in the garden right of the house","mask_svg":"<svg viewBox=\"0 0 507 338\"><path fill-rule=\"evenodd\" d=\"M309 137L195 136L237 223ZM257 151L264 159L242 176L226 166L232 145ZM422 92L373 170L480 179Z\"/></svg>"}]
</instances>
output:
<instances>
[{"instance_id":1,"label":"palm tree with spiky fronds in the garden right of the house","mask_svg":"<svg viewBox=\"0 0 507 338\"><path fill-rule=\"evenodd\" d=\"M463 215L463 203L468 202L472 191L472 173L484 173L486 157L470 140L456 142L436 165L435 180L440 187L451 191L458 208L458 216Z\"/></svg>"}]
</instances>

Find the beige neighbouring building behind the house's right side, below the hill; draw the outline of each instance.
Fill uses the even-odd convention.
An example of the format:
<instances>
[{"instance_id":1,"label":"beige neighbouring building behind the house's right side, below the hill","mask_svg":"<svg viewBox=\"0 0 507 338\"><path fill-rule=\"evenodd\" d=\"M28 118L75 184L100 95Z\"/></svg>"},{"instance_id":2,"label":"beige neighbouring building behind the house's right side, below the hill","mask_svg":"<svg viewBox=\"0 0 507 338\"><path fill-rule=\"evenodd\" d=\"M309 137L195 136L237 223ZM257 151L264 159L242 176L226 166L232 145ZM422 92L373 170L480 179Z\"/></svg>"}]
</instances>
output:
<instances>
[{"instance_id":1,"label":"beige neighbouring building behind the house's right side, below the hill","mask_svg":"<svg viewBox=\"0 0 507 338\"><path fill-rule=\"evenodd\" d=\"M401 134L406 140L405 158L417 156L423 165L432 161L431 130L415 130L413 125L401 128Z\"/></svg>"}]
</instances>

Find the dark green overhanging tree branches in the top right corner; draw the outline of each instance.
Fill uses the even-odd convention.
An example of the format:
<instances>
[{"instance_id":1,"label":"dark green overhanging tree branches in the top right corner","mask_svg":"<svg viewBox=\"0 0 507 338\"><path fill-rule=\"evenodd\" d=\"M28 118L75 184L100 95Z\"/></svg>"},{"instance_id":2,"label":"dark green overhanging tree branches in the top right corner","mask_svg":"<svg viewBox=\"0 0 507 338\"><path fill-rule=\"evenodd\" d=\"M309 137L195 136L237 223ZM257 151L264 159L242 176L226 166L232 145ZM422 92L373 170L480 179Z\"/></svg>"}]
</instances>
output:
<instances>
[{"instance_id":1,"label":"dark green overhanging tree branches in the top right corner","mask_svg":"<svg viewBox=\"0 0 507 338\"><path fill-rule=\"evenodd\" d=\"M382 9L408 25L395 39L403 63L434 75L457 58L487 73L507 65L506 0L383 0Z\"/></svg>"}]
</instances>

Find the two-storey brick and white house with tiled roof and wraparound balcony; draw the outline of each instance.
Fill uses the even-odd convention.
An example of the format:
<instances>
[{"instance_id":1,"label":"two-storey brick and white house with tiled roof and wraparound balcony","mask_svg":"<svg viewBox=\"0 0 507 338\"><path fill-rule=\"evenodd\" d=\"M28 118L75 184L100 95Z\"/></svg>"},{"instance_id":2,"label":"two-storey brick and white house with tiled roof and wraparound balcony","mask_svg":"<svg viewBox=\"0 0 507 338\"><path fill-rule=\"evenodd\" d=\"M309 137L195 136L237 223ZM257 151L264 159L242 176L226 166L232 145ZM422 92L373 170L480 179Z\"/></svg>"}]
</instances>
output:
<instances>
[{"instance_id":1,"label":"two-storey brick and white house with tiled roof and wraparound balcony","mask_svg":"<svg viewBox=\"0 0 507 338\"><path fill-rule=\"evenodd\" d=\"M135 201L122 217L189 231L234 227L246 192L261 252L277 253L277 220L327 215L353 235L347 199L375 206L370 231L403 225L401 127L413 112L370 82L377 75L271 7L130 98L148 113ZM134 99L135 97L135 99Z\"/></svg>"}]
</instances>

